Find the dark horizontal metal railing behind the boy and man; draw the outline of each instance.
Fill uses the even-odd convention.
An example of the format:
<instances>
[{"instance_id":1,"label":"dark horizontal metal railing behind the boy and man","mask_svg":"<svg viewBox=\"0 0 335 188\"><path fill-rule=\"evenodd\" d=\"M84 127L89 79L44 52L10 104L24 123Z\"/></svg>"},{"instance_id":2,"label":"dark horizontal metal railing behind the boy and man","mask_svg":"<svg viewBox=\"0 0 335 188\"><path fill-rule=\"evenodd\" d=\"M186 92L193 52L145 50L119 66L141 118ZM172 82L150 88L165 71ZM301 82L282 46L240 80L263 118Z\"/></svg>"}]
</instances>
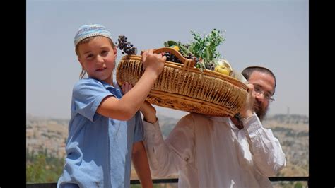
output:
<instances>
[{"instance_id":1,"label":"dark horizontal metal railing behind the boy and man","mask_svg":"<svg viewBox=\"0 0 335 188\"><path fill-rule=\"evenodd\" d=\"M309 177L269 177L271 182L307 182ZM154 179L153 184L170 184L177 183L178 179ZM130 184L140 184L139 180L130 180ZM27 188L55 188L57 187L57 182L52 183L33 183L27 184Z\"/></svg>"}]
</instances>

